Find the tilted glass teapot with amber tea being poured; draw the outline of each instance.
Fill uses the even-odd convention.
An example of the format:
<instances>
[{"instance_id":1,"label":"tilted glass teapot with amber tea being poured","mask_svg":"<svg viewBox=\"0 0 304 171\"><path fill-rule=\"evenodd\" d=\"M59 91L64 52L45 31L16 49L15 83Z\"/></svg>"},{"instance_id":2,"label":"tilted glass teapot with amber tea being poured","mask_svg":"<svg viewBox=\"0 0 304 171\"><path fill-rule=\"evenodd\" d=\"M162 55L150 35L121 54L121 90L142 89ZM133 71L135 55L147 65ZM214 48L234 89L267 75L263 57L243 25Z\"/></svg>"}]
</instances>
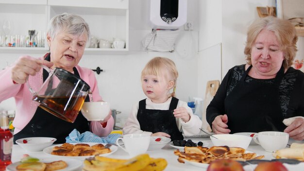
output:
<instances>
[{"instance_id":1,"label":"tilted glass teapot with amber tea being poured","mask_svg":"<svg viewBox=\"0 0 304 171\"><path fill-rule=\"evenodd\" d=\"M52 115L73 123L90 93L90 86L77 75L62 68L43 66L49 72L49 77L35 92L28 83L33 94L33 101Z\"/></svg>"}]
</instances>

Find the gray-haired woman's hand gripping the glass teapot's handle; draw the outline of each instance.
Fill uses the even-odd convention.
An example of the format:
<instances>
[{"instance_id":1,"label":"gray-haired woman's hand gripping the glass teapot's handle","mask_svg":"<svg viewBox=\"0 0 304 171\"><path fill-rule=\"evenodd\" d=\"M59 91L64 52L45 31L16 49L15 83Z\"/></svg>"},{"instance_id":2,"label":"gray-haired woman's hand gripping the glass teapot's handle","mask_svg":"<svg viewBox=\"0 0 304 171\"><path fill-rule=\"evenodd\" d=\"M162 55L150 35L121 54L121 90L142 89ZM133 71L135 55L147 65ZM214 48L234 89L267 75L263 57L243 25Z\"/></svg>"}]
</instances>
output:
<instances>
[{"instance_id":1,"label":"gray-haired woman's hand gripping the glass teapot's handle","mask_svg":"<svg viewBox=\"0 0 304 171\"><path fill-rule=\"evenodd\" d=\"M12 68L12 80L17 84L25 83L29 75L34 76L40 70L40 65L51 67L53 63L31 56L21 56Z\"/></svg>"}]
</instances>

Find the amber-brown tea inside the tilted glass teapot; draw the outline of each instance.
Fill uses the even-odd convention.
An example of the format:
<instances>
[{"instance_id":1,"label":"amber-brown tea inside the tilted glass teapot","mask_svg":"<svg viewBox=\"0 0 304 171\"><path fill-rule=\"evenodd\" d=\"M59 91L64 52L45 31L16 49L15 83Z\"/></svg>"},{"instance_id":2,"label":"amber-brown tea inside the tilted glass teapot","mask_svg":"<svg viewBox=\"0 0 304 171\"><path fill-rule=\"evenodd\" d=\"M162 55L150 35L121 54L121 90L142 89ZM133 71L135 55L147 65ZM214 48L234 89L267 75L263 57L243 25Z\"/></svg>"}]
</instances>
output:
<instances>
[{"instance_id":1,"label":"amber-brown tea inside the tilted glass teapot","mask_svg":"<svg viewBox=\"0 0 304 171\"><path fill-rule=\"evenodd\" d=\"M85 100L85 96L62 96L52 97L34 95L33 101L39 102L40 107L54 116L73 123L76 120Z\"/></svg>"}]
</instances>

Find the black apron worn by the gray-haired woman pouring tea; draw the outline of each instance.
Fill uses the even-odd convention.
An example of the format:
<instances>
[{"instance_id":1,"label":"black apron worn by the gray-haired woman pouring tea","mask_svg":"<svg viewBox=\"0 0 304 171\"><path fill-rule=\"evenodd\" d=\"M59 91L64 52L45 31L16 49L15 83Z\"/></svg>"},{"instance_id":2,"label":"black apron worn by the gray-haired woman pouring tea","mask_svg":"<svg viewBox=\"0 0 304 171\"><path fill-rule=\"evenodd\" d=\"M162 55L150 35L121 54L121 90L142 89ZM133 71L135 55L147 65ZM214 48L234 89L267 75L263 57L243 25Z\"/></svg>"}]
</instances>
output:
<instances>
[{"instance_id":1,"label":"black apron worn by the gray-haired woman pouring tea","mask_svg":"<svg viewBox=\"0 0 304 171\"><path fill-rule=\"evenodd\" d=\"M45 58L50 61L50 54ZM79 76L77 69L73 68L74 74ZM43 69L43 82L48 78L49 73ZM79 76L80 77L80 76ZM84 102L89 102L89 96L86 96ZM74 129L80 133L89 131L89 122L84 118L81 111L74 123L61 120L38 106L32 120L17 134L14 135L14 144L16 140L26 137L54 137L57 140L55 144L65 143L66 137Z\"/></svg>"}]
</instances>

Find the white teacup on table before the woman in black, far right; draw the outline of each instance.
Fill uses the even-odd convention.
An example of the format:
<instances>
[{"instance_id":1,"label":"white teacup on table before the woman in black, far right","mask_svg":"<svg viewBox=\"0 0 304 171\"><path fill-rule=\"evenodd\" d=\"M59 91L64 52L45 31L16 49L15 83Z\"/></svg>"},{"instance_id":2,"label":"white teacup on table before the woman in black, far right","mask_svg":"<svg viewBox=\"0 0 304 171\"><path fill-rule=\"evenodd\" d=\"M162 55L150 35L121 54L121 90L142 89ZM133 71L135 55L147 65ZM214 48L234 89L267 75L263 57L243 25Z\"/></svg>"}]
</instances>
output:
<instances>
[{"instance_id":1,"label":"white teacup on table before the woman in black, far right","mask_svg":"<svg viewBox=\"0 0 304 171\"><path fill-rule=\"evenodd\" d=\"M259 132L253 136L253 141L261 145L267 152L284 149L288 143L289 134L276 131Z\"/></svg>"}]
</instances>

